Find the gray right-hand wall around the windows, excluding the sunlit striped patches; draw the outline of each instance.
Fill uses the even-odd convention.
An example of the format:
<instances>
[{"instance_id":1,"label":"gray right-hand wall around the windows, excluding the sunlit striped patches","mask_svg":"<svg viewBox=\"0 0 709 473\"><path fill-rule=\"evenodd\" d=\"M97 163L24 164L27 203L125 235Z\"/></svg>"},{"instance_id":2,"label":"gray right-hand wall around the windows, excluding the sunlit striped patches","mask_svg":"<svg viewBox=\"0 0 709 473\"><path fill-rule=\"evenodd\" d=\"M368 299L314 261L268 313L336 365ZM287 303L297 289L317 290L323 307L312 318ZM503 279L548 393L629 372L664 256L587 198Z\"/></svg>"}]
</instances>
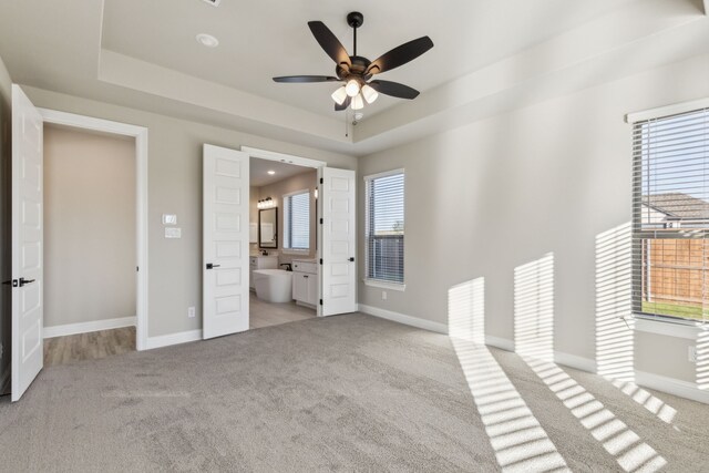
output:
<instances>
[{"instance_id":1,"label":"gray right-hand wall around the windows, excluding the sunlit striped patches","mask_svg":"<svg viewBox=\"0 0 709 473\"><path fill-rule=\"evenodd\" d=\"M360 282L360 304L445 323L449 288L484 277L486 333L513 340L514 269L551 251L555 348L593 359L595 239L630 220L624 115L707 95L700 56L361 158L360 181L405 169L407 289ZM360 228L363 200L360 186ZM689 340L636 341L638 370L693 380Z\"/></svg>"}]
</instances>

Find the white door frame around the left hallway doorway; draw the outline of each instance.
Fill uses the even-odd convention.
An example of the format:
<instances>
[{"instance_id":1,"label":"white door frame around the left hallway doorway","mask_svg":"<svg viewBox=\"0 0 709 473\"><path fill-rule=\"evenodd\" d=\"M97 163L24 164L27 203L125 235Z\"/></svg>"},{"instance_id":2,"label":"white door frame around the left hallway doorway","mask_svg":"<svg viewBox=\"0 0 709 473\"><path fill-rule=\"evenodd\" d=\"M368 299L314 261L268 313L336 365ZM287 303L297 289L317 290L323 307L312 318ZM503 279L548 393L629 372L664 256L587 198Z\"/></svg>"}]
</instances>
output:
<instances>
[{"instance_id":1,"label":"white door frame around the left hallway doorway","mask_svg":"<svg viewBox=\"0 0 709 473\"><path fill-rule=\"evenodd\" d=\"M137 290L135 307L135 348L147 347L147 128L92 116L38 107L44 123L72 126L135 138L135 224Z\"/></svg>"}]
</instances>

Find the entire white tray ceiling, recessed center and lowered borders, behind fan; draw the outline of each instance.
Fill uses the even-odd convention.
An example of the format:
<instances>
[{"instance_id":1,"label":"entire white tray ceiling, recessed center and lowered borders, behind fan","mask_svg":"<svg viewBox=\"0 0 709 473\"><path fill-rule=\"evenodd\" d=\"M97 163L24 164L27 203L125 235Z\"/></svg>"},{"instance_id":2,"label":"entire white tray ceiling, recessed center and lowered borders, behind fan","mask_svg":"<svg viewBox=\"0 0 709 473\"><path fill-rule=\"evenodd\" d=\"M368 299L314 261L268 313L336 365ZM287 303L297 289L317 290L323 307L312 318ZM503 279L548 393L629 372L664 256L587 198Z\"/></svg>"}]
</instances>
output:
<instances>
[{"instance_id":1,"label":"entire white tray ceiling, recessed center and lowered borders, behind fan","mask_svg":"<svg viewBox=\"0 0 709 473\"><path fill-rule=\"evenodd\" d=\"M709 52L702 0L24 0L0 4L0 56L39 89L362 155L604 81ZM345 134L333 84L277 84L333 64L309 20L351 51L364 14L370 60L428 34L435 47L381 79L422 94L381 96ZM197 33L217 37L206 49Z\"/></svg>"}]
</instances>

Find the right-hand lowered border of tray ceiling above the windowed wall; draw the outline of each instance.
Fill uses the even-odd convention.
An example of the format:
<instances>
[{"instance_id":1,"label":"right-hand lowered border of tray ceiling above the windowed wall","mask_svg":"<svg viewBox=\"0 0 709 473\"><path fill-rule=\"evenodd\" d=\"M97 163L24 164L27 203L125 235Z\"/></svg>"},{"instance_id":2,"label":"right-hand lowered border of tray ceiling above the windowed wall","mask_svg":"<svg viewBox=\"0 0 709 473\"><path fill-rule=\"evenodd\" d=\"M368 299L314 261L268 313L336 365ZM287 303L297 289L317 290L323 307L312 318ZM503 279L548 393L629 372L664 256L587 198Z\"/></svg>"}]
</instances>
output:
<instances>
[{"instance_id":1,"label":"right-hand lowered border of tray ceiling above the windowed wall","mask_svg":"<svg viewBox=\"0 0 709 473\"><path fill-rule=\"evenodd\" d=\"M678 56L667 45L709 37L706 23L707 17L691 2L631 2L368 117L354 128L356 154L374 153L409 143L412 136L441 133L689 59L701 50L685 48L686 54Z\"/></svg>"}]
</instances>

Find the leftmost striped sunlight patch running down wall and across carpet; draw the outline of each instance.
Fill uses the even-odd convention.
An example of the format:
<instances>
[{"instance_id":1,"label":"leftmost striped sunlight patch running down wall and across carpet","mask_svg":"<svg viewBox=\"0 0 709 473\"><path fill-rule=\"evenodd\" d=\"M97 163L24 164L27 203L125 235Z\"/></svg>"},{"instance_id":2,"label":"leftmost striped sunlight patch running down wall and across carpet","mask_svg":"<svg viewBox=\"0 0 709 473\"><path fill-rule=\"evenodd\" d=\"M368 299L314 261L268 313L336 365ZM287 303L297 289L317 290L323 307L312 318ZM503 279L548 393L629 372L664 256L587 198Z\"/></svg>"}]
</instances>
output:
<instances>
[{"instance_id":1,"label":"leftmost striped sunlight patch running down wall and across carpet","mask_svg":"<svg viewBox=\"0 0 709 473\"><path fill-rule=\"evenodd\" d=\"M502 471L568 471L556 446L484 345L484 278L449 289L448 318L451 342Z\"/></svg>"}]
</instances>

